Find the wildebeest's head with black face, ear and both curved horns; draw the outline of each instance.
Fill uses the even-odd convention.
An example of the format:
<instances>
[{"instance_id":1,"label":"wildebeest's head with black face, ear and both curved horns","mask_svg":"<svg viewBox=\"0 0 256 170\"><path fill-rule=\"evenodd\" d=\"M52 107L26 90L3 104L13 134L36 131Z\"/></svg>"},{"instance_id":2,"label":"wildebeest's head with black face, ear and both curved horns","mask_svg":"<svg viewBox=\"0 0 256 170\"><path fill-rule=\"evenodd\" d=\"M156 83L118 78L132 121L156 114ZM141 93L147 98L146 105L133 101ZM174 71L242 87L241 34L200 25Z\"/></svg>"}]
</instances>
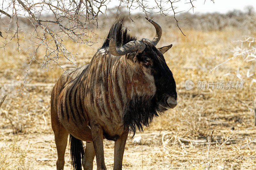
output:
<instances>
[{"instance_id":1,"label":"wildebeest's head with black face, ear and both curved horns","mask_svg":"<svg viewBox=\"0 0 256 170\"><path fill-rule=\"evenodd\" d=\"M160 41L162 35L162 29L153 20L146 19L156 28L156 36L153 40L150 41L145 38L140 41L134 40L116 49L116 24L110 38L109 50L112 55L116 56L127 54L126 56L130 63L137 65L145 74L154 77L153 81L156 85L156 94L154 96L157 103L156 109L158 112L163 112L177 106L175 80L163 55L172 47L172 44L162 48L156 48L156 44Z\"/></svg>"}]
</instances>

